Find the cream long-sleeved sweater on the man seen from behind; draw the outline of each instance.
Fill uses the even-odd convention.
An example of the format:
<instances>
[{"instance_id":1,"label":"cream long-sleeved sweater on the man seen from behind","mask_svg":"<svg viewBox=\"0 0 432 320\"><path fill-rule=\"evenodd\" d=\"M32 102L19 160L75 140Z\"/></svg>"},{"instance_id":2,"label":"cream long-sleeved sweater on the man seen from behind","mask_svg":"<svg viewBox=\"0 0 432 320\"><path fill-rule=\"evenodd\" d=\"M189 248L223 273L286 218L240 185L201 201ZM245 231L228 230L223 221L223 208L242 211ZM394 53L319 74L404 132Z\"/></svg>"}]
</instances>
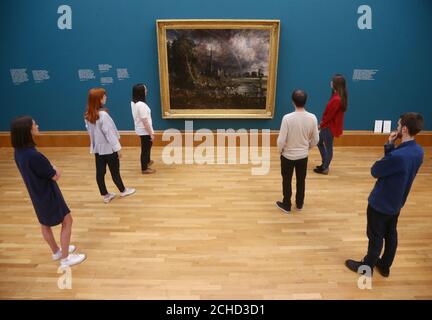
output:
<instances>
[{"instance_id":1,"label":"cream long-sleeved sweater on the man seen from behind","mask_svg":"<svg viewBox=\"0 0 432 320\"><path fill-rule=\"evenodd\" d=\"M279 152L289 160L304 159L309 149L319 141L318 121L313 113L295 111L286 114L281 123L277 145Z\"/></svg>"}]
</instances>

